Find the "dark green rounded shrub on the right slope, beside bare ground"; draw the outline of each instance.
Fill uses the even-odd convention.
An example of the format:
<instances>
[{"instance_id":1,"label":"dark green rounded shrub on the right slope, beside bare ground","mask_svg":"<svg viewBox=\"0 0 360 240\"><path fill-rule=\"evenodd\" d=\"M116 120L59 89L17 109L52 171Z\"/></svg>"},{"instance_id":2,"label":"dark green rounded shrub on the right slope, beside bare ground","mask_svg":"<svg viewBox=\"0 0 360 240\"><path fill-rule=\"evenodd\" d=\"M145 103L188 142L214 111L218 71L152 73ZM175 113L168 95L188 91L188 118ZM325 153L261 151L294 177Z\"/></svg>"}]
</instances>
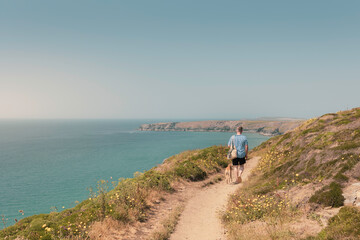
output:
<instances>
[{"instance_id":1,"label":"dark green rounded shrub on the right slope, beside bare ground","mask_svg":"<svg viewBox=\"0 0 360 240\"><path fill-rule=\"evenodd\" d=\"M329 186L316 191L309 201L323 206L340 207L344 205L344 200L341 186L336 182L332 182Z\"/></svg>"}]
</instances>

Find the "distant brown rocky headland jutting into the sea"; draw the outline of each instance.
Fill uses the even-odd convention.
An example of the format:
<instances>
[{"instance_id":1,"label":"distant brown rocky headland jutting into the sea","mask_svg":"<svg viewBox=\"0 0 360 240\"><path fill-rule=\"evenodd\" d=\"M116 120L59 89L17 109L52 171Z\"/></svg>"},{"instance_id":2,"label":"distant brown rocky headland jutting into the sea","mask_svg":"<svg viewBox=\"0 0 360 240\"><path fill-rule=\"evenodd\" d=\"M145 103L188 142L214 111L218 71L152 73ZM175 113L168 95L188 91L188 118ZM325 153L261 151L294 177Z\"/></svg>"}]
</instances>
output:
<instances>
[{"instance_id":1,"label":"distant brown rocky headland jutting into the sea","mask_svg":"<svg viewBox=\"0 0 360 240\"><path fill-rule=\"evenodd\" d=\"M143 124L140 131L193 131L193 132L234 132L236 127L242 126L244 132L260 133L262 135L281 135L298 127L303 120L282 121L195 121L195 122L167 122Z\"/></svg>"}]
</instances>

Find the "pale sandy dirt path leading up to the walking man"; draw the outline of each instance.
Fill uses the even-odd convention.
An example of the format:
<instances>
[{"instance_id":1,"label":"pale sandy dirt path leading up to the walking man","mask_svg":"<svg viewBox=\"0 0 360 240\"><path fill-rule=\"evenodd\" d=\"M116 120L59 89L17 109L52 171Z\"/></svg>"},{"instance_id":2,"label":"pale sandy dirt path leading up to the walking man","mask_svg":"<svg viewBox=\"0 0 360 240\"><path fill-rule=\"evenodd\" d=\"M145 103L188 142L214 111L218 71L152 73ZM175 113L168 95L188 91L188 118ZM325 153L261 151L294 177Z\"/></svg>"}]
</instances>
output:
<instances>
[{"instance_id":1,"label":"pale sandy dirt path leading up to the walking man","mask_svg":"<svg viewBox=\"0 0 360 240\"><path fill-rule=\"evenodd\" d=\"M242 175L246 181L250 171L254 168L259 157L253 157L245 165ZM224 228L221 224L219 212L225 209L228 195L236 191L239 185L218 184L205 188L191 197L181 215L180 221L170 240L224 240Z\"/></svg>"}]
</instances>

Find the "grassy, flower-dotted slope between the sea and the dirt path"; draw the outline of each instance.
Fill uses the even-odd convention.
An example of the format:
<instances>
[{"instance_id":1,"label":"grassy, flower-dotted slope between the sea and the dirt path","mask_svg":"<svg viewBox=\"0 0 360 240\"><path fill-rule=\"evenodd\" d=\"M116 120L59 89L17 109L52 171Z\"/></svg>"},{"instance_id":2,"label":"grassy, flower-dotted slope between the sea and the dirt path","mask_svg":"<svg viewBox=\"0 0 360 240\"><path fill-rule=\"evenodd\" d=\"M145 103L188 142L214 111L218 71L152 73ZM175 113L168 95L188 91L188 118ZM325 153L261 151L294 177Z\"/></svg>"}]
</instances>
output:
<instances>
[{"instance_id":1,"label":"grassy, flower-dotted slope between the sea and the dirt path","mask_svg":"<svg viewBox=\"0 0 360 240\"><path fill-rule=\"evenodd\" d=\"M146 221L154 201L174 192L178 181L199 181L221 171L227 165L226 151L221 146L186 151L134 178L99 181L89 199L76 207L24 218L1 230L0 239L91 239L98 222L111 219L125 228ZM108 191L111 184L115 188Z\"/></svg>"}]
</instances>

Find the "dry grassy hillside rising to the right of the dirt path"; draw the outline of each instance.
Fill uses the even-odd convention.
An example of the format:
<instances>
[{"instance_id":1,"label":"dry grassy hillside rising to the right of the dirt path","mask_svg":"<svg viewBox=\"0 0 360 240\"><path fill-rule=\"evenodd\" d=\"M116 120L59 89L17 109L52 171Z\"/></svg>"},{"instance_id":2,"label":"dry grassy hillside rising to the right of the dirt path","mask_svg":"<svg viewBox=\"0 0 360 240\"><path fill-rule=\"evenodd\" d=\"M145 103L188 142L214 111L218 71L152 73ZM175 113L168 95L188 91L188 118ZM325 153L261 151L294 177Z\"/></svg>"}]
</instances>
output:
<instances>
[{"instance_id":1,"label":"dry grassy hillside rising to the right of the dirt path","mask_svg":"<svg viewBox=\"0 0 360 240\"><path fill-rule=\"evenodd\" d=\"M360 181L360 108L310 119L251 155L259 165L223 216L231 239L360 239L359 209L336 215Z\"/></svg>"}]
</instances>

